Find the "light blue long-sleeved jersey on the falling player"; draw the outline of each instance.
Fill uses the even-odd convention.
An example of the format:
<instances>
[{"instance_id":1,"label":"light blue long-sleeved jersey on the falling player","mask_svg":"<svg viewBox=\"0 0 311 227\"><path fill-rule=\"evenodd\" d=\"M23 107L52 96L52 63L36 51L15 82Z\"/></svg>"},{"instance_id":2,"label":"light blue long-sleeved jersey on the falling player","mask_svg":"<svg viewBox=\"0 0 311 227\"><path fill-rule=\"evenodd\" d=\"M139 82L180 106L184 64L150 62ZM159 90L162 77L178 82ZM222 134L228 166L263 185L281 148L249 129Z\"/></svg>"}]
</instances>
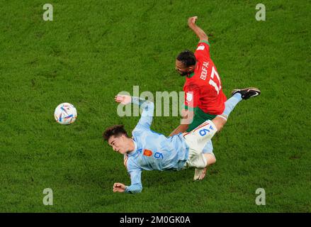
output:
<instances>
[{"instance_id":1,"label":"light blue long-sleeved jersey on the falling player","mask_svg":"<svg viewBox=\"0 0 311 227\"><path fill-rule=\"evenodd\" d=\"M142 190L142 170L181 170L188 160L188 145L179 133L171 137L155 133L150 129L154 104L132 97L134 104L141 105L140 121L132 131L135 150L124 156L124 164L130 174L131 185L125 192L137 193Z\"/></svg>"}]
</instances>

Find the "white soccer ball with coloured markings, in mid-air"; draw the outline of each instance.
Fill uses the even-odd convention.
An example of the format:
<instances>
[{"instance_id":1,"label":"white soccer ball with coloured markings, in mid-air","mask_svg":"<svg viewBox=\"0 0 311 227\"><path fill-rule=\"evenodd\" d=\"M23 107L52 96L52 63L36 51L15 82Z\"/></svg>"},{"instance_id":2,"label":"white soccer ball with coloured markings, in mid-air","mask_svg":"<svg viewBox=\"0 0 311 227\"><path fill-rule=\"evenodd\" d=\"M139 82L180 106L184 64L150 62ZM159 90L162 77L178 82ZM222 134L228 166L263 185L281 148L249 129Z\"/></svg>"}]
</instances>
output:
<instances>
[{"instance_id":1,"label":"white soccer ball with coloured markings, in mid-air","mask_svg":"<svg viewBox=\"0 0 311 227\"><path fill-rule=\"evenodd\" d=\"M56 107L54 116L55 120L61 125L69 125L76 121L77 109L74 105L65 102Z\"/></svg>"}]
</instances>

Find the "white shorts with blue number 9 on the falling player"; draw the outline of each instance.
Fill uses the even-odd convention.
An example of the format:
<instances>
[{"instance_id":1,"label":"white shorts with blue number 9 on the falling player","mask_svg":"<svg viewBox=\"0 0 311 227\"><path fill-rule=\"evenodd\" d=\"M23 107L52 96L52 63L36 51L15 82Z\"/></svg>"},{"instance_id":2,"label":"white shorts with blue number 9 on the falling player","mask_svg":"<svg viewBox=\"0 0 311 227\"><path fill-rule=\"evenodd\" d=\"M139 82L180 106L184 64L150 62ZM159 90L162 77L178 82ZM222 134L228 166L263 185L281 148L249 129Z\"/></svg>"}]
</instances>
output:
<instances>
[{"instance_id":1,"label":"white shorts with blue number 9 on the falling player","mask_svg":"<svg viewBox=\"0 0 311 227\"><path fill-rule=\"evenodd\" d=\"M214 123L208 120L193 129L193 131L183 134L183 138L185 138L189 147L186 167L204 168L207 165L207 161L203 155L203 148L209 143L216 132L217 128Z\"/></svg>"}]
</instances>

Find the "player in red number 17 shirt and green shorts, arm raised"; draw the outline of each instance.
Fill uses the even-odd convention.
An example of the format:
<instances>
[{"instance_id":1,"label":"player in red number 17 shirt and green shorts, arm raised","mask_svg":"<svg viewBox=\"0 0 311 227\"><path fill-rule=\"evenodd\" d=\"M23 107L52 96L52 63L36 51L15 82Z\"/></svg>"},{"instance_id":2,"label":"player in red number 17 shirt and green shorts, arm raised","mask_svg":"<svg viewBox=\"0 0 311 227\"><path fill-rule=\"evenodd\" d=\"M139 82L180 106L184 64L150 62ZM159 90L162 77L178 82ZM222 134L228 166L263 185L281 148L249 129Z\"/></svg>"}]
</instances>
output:
<instances>
[{"instance_id":1,"label":"player in red number 17 shirt and green shorts, arm raised","mask_svg":"<svg viewBox=\"0 0 311 227\"><path fill-rule=\"evenodd\" d=\"M225 109L225 94L222 83L213 60L210 59L210 43L208 35L196 25L197 16L188 18L188 26L200 39L196 52L185 50L176 57L176 71L186 76L183 86L185 92L185 108L182 116L185 121L171 134L190 132L207 120L213 120ZM203 153L213 154L213 144L209 141ZM205 177L203 172L195 172L194 180Z\"/></svg>"}]
</instances>

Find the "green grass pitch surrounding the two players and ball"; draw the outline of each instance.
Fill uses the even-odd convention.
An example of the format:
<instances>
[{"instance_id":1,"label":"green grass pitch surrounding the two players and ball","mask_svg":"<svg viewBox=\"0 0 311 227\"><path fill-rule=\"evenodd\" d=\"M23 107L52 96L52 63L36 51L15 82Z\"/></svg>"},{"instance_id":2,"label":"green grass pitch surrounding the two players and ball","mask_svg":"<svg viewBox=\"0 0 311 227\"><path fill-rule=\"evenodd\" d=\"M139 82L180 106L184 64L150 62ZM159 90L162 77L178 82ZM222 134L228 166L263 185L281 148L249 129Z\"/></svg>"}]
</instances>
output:
<instances>
[{"instance_id":1,"label":"green grass pitch surrounding the two players and ball","mask_svg":"<svg viewBox=\"0 0 311 227\"><path fill-rule=\"evenodd\" d=\"M43 21L43 5L53 21ZM255 6L266 6L256 21ZM0 212L311 212L310 1L0 0ZM202 182L193 170L142 172L141 194L103 130L119 117L121 91L182 90L176 55L195 50L187 19L209 35L225 94L259 87L213 138L215 165ZM69 102L78 118L55 122ZM154 117L164 135L179 117ZM43 205L43 189L53 206ZM266 191L266 206L255 203Z\"/></svg>"}]
</instances>

